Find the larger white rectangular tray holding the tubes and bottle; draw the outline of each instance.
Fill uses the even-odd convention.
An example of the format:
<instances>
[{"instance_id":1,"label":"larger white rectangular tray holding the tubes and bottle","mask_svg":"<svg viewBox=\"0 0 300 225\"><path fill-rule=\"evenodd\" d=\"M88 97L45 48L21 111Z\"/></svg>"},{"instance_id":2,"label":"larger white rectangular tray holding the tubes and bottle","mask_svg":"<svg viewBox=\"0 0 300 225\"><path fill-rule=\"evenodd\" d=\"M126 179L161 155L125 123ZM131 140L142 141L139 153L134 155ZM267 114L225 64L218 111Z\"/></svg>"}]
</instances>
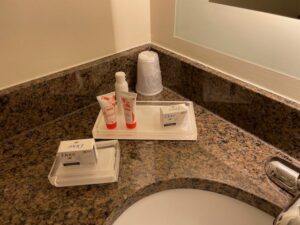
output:
<instances>
[{"instance_id":1,"label":"larger white rectangular tray holding the tubes and bottle","mask_svg":"<svg viewBox=\"0 0 300 225\"><path fill-rule=\"evenodd\" d=\"M176 104L185 104L188 107L187 116L179 126L162 127L160 107ZM95 139L197 140L197 126L191 101L138 101L136 116L135 129L128 129L124 116L118 115L117 128L109 130L100 111L93 128L93 137Z\"/></svg>"}]
</instances>

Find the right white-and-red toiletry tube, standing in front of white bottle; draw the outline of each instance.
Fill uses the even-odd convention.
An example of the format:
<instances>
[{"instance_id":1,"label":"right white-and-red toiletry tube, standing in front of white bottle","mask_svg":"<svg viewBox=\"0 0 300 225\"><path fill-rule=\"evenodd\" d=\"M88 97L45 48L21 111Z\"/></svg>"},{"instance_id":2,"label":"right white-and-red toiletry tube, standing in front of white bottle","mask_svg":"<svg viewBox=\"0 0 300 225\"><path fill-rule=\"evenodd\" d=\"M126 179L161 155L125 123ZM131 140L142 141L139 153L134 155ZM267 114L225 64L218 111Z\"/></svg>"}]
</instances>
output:
<instances>
[{"instance_id":1,"label":"right white-and-red toiletry tube, standing in front of white bottle","mask_svg":"<svg viewBox=\"0 0 300 225\"><path fill-rule=\"evenodd\" d=\"M122 107L125 116L126 127L128 129L134 129L136 127L136 93L131 92L119 92Z\"/></svg>"}]
</instances>

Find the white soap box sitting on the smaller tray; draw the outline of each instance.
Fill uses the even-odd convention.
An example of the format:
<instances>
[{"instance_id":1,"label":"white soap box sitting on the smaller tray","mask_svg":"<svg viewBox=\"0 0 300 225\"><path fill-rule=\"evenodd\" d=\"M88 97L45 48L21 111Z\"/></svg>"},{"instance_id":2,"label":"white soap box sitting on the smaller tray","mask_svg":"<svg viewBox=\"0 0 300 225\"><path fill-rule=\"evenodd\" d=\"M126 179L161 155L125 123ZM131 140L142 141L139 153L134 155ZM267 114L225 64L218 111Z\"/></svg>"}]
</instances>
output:
<instances>
[{"instance_id":1,"label":"white soap box sitting on the smaller tray","mask_svg":"<svg viewBox=\"0 0 300 225\"><path fill-rule=\"evenodd\" d=\"M57 152L63 166L95 165L96 154L94 139L62 141Z\"/></svg>"}]
</instances>

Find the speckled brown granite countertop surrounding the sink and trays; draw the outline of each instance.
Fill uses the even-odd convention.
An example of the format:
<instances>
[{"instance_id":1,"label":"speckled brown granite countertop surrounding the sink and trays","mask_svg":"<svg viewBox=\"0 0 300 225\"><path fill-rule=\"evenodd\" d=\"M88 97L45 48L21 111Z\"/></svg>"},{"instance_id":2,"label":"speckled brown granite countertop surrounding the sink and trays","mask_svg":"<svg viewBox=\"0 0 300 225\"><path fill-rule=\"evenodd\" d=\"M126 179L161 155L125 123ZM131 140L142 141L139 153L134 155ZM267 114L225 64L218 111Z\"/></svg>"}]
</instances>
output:
<instances>
[{"instance_id":1,"label":"speckled brown granite countertop surrounding the sink and trays","mask_svg":"<svg viewBox=\"0 0 300 225\"><path fill-rule=\"evenodd\" d=\"M142 98L140 98L142 99ZM164 89L154 98L183 100ZM280 150L194 105L197 141L120 141L117 183L56 188L48 173L61 140L91 137L98 104L0 142L1 224L111 224L129 205L171 188L225 194L275 215L291 196L264 164ZM293 159L290 159L293 160Z\"/></svg>"}]
</instances>

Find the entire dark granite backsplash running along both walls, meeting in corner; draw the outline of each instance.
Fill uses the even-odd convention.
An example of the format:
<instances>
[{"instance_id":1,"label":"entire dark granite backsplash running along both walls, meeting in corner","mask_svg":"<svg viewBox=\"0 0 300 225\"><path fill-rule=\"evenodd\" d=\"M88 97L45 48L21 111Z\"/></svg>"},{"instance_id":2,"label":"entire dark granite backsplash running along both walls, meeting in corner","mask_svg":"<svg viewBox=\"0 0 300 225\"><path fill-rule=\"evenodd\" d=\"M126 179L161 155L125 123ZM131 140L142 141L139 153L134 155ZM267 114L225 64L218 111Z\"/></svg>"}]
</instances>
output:
<instances>
[{"instance_id":1,"label":"entire dark granite backsplash running along both walls, meeting in corner","mask_svg":"<svg viewBox=\"0 0 300 225\"><path fill-rule=\"evenodd\" d=\"M159 53L164 86L300 159L300 106L171 53L143 45L0 91L0 138L5 139L96 102L124 71L135 86L137 56Z\"/></svg>"}]
</instances>

